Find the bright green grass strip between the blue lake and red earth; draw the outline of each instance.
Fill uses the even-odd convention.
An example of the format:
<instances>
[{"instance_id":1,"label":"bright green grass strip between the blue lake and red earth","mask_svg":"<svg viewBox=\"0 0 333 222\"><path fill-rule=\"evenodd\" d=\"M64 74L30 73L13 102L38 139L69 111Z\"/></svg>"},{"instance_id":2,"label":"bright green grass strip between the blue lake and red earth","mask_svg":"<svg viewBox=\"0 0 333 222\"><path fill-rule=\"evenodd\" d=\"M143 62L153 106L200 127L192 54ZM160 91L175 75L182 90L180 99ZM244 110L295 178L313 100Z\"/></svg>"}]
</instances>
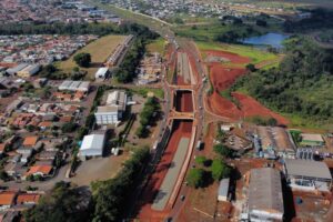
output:
<instances>
[{"instance_id":1,"label":"bright green grass strip between the blue lake and red earth","mask_svg":"<svg viewBox=\"0 0 333 222\"><path fill-rule=\"evenodd\" d=\"M254 64L259 64L263 61L278 59L276 54L255 49L254 47L251 46L226 44L226 43L219 43L219 42L202 42L202 41L198 41L196 46L201 51L220 50L220 51L233 52L242 57L248 57L252 60L252 63Z\"/></svg>"}]
</instances>

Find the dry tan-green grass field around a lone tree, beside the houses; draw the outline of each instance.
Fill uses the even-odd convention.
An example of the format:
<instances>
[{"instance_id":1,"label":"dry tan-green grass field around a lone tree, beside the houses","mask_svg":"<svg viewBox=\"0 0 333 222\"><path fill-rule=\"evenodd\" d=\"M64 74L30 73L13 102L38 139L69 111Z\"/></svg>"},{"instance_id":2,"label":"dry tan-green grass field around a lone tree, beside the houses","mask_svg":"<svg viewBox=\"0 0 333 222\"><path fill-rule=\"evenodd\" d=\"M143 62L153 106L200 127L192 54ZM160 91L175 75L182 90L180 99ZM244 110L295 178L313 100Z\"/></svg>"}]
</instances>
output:
<instances>
[{"instance_id":1,"label":"dry tan-green grass field around a lone tree, beside the houses","mask_svg":"<svg viewBox=\"0 0 333 222\"><path fill-rule=\"evenodd\" d=\"M56 65L58 69L63 72L71 72L74 67L78 67L73 61L73 57L81 52L88 52L91 54L91 65L88 69L83 69L88 71L88 78L93 78L95 71L102 67L103 62L108 59L109 56L113 52L115 47L124 40L124 36L107 36L102 37L82 49L78 50L72 57L70 57L65 61L57 62Z\"/></svg>"}]
</instances>

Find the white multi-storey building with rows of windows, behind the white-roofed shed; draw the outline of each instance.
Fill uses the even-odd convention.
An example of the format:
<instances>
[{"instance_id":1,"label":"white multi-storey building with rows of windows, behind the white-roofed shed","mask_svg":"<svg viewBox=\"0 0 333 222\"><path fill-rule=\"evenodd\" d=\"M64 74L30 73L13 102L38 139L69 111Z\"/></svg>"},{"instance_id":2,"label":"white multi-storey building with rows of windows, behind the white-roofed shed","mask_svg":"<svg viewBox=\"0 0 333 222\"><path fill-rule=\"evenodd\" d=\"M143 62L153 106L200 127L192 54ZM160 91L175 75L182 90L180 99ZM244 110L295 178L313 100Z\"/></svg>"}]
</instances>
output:
<instances>
[{"instance_id":1,"label":"white multi-storey building with rows of windows, behind the white-roofed shed","mask_svg":"<svg viewBox=\"0 0 333 222\"><path fill-rule=\"evenodd\" d=\"M109 93L107 104L98 107L94 113L97 124L118 124L127 108L127 94L124 91Z\"/></svg>"}]
</instances>

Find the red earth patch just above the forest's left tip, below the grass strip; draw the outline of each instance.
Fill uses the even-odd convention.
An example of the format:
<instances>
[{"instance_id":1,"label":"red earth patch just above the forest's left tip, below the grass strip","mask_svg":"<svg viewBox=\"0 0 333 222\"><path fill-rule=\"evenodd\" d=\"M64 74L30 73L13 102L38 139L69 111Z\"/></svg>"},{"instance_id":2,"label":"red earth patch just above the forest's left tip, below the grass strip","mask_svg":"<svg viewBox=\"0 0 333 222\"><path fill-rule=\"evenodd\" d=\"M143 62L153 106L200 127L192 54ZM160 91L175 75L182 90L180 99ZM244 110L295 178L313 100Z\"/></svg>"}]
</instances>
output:
<instances>
[{"instance_id":1,"label":"red earth patch just above the forest's left tip, below the grass strip","mask_svg":"<svg viewBox=\"0 0 333 222\"><path fill-rule=\"evenodd\" d=\"M226 69L221 64L211 65L211 83L213 84L214 90L223 91L231 87L234 81L246 73L246 70L243 68L233 68Z\"/></svg>"}]
</instances>

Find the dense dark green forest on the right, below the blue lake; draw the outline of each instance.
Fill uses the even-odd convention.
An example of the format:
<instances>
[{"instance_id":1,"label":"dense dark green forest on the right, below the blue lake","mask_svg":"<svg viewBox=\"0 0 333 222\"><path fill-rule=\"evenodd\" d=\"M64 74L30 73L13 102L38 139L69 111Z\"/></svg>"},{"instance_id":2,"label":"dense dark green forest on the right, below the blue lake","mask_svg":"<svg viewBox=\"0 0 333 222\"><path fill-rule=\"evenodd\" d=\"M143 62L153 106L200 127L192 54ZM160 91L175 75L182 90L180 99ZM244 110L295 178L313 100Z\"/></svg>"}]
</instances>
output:
<instances>
[{"instance_id":1,"label":"dense dark green forest on the right, below the blue lake","mask_svg":"<svg viewBox=\"0 0 333 222\"><path fill-rule=\"evenodd\" d=\"M333 51L306 38L289 40L285 50L279 68L244 75L232 91L244 87L252 97L280 112L316 120L333 118L333 94L329 93L333 83ZM325 91L325 97L321 97Z\"/></svg>"}]
</instances>

